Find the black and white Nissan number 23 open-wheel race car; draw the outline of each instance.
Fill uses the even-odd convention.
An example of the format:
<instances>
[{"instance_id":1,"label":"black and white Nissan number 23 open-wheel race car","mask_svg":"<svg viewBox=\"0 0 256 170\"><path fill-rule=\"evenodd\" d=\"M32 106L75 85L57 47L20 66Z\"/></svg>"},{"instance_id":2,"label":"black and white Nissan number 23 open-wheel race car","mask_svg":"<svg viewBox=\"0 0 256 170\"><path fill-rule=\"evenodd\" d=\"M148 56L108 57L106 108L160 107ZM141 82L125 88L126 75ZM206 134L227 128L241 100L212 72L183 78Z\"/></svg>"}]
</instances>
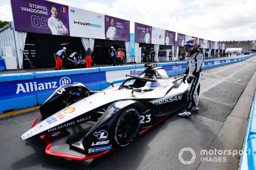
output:
<instances>
[{"instance_id":1,"label":"black and white Nissan number 23 open-wheel race car","mask_svg":"<svg viewBox=\"0 0 256 170\"><path fill-rule=\"evenodd\" d=\"M133 139L187 103L188 84L169 78L157 64L145 64L139 76L93 91L78 82L60 86L40 107L41 117L21 135L41 137L45 153L85 160L98 157Z\"/></svg>"}]
</instances>

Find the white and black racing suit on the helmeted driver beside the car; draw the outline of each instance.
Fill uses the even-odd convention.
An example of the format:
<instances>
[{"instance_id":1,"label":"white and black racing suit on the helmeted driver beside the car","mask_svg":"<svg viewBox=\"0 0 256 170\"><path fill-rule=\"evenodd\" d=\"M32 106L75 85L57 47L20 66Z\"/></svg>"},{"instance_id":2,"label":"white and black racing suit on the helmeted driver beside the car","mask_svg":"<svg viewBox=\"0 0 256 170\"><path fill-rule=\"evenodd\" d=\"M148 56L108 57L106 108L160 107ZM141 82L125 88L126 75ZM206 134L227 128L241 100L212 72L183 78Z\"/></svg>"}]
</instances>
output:
<instances>
[{"instance_id":1,"label":"white and black racing suit on the helmeted driver beside the car","mask_svg":"<svg viewBox=\"0 0 256 170\"><path fill-rule=\"evenodd\" d=\"M193 107L198 109L198 95L197 88L202 78L200 74L202 70L204 55L199 50L193 51L188 57L188 65L184 76L192 77L192 81L188 87L188 103L187 103L187 112L191 112Z\"/></svg>"}]
</instances>

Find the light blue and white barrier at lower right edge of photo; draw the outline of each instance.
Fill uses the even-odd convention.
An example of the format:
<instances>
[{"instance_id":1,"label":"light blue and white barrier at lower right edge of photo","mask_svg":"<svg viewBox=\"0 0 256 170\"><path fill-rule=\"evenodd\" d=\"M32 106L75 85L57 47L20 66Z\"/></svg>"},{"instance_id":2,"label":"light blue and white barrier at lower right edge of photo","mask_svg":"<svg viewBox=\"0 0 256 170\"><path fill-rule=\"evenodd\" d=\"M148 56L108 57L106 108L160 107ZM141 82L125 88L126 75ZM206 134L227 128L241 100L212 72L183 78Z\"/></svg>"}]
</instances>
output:
<instances>
[{"instance_id":1,"label":"light blue and white barrier at lower right edge of photo","mask_svg":"<svg viewBox=\"0 0 256 170\"><path fill-rule=\"evenodd\" d=\"M239 170L256 169L256 93L244 140L243 155Z\"/></svg>"}]
</instances>

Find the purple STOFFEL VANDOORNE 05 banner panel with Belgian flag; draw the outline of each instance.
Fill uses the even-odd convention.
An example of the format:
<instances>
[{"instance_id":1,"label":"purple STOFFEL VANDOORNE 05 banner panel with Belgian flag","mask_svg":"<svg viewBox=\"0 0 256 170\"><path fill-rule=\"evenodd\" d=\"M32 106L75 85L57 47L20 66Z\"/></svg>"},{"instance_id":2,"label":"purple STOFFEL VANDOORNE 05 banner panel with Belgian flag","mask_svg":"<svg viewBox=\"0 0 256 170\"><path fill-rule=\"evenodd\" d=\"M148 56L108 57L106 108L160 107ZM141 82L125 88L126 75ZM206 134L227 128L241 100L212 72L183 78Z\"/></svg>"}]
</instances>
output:
<instances>
[{"instance_id":1,"label":"purple STOFFEL VANDOORNE 05 banner panel with Belgian flag","mask_svg":"<svg viewBox=\"0 0 256 170\"><path fill-rule=\"evenodd\" d=\"M15 31L70 35L68 6L49 1L11 0Z\"/></svg>"}]
</instances>

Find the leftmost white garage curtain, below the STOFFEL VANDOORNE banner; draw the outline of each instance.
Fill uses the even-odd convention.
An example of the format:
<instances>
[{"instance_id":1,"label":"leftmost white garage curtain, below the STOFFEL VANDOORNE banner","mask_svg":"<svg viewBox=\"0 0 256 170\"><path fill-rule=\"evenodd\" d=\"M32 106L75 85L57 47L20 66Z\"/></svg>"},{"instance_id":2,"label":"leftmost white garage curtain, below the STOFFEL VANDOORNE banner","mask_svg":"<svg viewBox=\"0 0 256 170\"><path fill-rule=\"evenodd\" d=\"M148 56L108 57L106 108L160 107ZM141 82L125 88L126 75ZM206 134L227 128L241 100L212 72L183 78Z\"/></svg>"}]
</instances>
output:
<instances>
[{"instance_id":1,"label":"leftmost white garage curtain, below the STOFFEL VANDOORNE banner","mask_svg":"<svg viewBox=\"0 0 256 170\"><path fill-rule=\"evenodd\" d=\"M23 68L23 53L20 49L24 50L27 32L14 31L15 42L17 48L17 57L19 68Z\"/></svg>"}]
</instances>

